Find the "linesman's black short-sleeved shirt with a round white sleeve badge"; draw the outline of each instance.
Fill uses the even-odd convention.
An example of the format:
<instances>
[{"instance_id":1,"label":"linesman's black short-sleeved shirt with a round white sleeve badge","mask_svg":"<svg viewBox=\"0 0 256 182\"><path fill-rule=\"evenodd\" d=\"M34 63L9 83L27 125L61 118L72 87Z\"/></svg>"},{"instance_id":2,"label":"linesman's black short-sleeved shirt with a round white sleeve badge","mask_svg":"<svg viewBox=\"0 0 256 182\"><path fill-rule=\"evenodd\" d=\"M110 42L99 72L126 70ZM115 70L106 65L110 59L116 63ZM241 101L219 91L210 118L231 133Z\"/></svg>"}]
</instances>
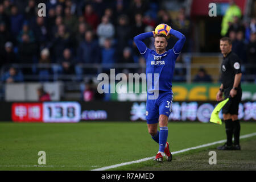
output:
<instances>
[{"instance_id":1,"label":"linesman's black short-sleeved shirt with a round white sleeve badge","mask_svg":"<svg viewBox=\"0 0 256 182\"><path fill-rule=\"evenodd\" d=\"M223 88L233 87L234 77L236 74L241 73L241 61L234 52L229 52L226 57L223 57L221 64L221 81ZM238 87L241 86L241 83Z\"/></svg>"}]
</instances>

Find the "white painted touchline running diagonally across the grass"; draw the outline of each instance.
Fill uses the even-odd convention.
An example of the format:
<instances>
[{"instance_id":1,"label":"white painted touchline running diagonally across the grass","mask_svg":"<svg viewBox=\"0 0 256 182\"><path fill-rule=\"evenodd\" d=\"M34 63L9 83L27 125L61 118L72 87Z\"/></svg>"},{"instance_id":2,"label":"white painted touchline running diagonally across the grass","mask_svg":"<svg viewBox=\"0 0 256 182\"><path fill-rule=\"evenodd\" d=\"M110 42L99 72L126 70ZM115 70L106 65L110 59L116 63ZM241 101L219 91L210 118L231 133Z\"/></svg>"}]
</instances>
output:
<instances>
[{"instance_id":1,"label":"white painted touchline running diagonally across the grass","mask_svg":"<svg viewBox=\"0 0 256 182\"><path fill-rule=\"evenodd\" d=\"M256 133L251 133L251 134L247 134L247 135L242 135L242 136L240 136L240 139L253 137L253 136L255 136L255 135L256 135ZM226 142L226 140L219 140L219 141L217 141L217 142L212 142L212 143L207 143L207 144L201 144L200 146L196 146L196 147L185 148L185 149L183 149L183 150L179 150L179 151L176 151L176 152L172 152L172 154L179 154L179 153L186 152L186 151L189 151L189 150L195 150L195 149L197 149L197 148L203 148L203 147L213 146L214 144L223 143L223 142ZM126 166L126 165L134 164L134 163L141 163L141 162L144 162L144 161L147 161L147 160L151 160L151 159L154 159L154 158L155 158L155 156L152 156L152 157L150 157L150 158L144 158L144 159L134 160L134 161L131 161L131 162L126 162L126 163L121 163L121 164L115 164L115 165L112 165L112 166L106 166L106 167L102 167L102 168L92 169L91 171L105 171L106 169L117 168L117 167Z\"/></svg>"}]
</instances>

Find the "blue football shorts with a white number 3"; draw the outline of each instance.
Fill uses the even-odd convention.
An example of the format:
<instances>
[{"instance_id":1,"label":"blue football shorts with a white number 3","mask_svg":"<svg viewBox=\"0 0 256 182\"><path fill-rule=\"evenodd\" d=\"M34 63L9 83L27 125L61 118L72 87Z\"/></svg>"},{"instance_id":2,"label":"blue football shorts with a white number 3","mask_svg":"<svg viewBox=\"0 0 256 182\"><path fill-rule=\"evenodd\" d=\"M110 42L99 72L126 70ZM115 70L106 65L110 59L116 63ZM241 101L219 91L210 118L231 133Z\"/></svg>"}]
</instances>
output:
<instances>
[{"instance_id":1,"label":"blue football shorts with a white number 3","mask_svg":"<svg viewBox=\"0 0 256 182\"><path fill-rule=\"evenodd\" d=\"M169 117L172 111L172 94L172 92L159 91L159 96L155 100L149 100L147 96L147 124L158 123L160 114L164 114ZM150 94L148 93L148 95Z\"/></svg>"}]
</instances>

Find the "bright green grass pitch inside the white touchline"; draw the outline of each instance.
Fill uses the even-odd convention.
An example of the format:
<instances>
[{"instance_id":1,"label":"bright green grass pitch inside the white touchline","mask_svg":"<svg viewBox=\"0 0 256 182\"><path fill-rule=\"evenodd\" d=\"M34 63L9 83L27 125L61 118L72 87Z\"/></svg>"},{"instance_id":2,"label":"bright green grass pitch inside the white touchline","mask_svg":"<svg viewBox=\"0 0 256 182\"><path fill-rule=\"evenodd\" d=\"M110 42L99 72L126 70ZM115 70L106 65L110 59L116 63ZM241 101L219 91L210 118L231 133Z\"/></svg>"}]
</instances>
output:
<instances>
[{"instance_id":1,"label":"bright green grass pitch inside the white touchline","mask_svg":"<svg viewBox=\"0 0 256 182\"><path fill-rule=\"evenodd\" d=\"M241 135L254 132L256 123L241 123ZM225 125L170 122L168 126L171 151L222 139ZM91 170L151 157L158 148L146 122L0 123L0 170ZM46 165L38 164L39 151L46 152ZM152 165L150 160L135 167ZM132 170L134 164L121 169Z\"/></svg>"}]
</instances>

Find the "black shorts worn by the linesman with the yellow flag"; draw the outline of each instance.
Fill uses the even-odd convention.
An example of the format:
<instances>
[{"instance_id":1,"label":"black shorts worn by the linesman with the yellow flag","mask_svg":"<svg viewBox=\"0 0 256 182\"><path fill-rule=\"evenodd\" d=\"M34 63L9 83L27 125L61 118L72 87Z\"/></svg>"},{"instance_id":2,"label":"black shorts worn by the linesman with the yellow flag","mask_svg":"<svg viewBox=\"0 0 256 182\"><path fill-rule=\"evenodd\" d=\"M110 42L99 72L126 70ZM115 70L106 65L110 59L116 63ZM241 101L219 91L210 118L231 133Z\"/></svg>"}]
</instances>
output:
<instances>
[{"instance_id":1,"label":"black shorts worn by the linesman with the yellow flag","mask_svg":"<svg viewBox=\"0 0 256 182\"><path fill-rule=\"evenodd\" d=\"M224 89L224 96L225 99L229 97L229 92L232 88L226 88ZM237 94L233 98L230 98L229 101L224 105L222 108L222 114L236 114L238 115L238 109L239 109L239 104L242 100L242 88L238 87L237 88Z\"/></svg>"}]
</instances>

